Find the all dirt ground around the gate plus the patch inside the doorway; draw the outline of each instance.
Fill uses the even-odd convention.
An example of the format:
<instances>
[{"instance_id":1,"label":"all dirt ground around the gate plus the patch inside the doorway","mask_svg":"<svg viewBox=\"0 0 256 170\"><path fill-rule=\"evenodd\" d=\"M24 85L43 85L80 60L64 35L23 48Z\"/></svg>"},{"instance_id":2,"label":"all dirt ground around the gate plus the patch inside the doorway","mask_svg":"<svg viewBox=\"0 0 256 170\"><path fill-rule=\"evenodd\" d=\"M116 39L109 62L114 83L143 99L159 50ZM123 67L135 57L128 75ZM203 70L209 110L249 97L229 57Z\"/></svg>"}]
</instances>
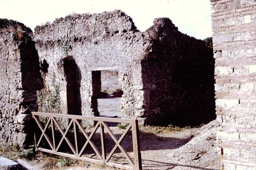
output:
<instances>
[{"instance_id":1,"label":"all dirt ground around the gate plus the patch inside the doorway","mask_svg":"<svg viewBox=\"0 0 256 170\"><path fill-rule=\"evenodd\" d=\"M120 98L98 99L100 115L104 117L121 117L120 114ZM117 124L108 124L119 139L123 130ZM140 127L140 146L142 156L143 169L210 169L216 170L220 168L220 157L217 147L215 146L216 130L218 127L217 121L212 121L206 125L197 128L179 128L173 126L154 127L146 126ZM92 129L86 129L88 133ZM70 140L74 138L70 132ZM68 134L67 134L68 136ZM49 136L50 137L50 136ZM50 137L51 138L51 137ZM111 136L106 133L106 153L108 154L115 143ZM58 143L58 139L55 139ZM95 146L101 151L100 131L96 131L91 139ZM79 136L79 150L85 143L85 137ZM42 141L43 142L43 141ZM46 143L46 142L45 142ZM62 152L70 152L65 142L61 144L60 150ZM71 143L74 141L71 140ZM125 150L133 157L132 148L132 134L129 132L121 143ZM47 146L44 146L47 148ZM62 150L61 150L62 149ZM0 156L12 159L19 162L27 169L115 169L104 165L92 164L79 160L72 160L60 156L38 152L32 160L20 159L19 152L0 149ZM97 155L88 145L86 153L82 156L97 159ZM128 163L119 149L113 154L110 162ZM64 165L62 166L61 163Z\"/></svg>"}]
</instances>

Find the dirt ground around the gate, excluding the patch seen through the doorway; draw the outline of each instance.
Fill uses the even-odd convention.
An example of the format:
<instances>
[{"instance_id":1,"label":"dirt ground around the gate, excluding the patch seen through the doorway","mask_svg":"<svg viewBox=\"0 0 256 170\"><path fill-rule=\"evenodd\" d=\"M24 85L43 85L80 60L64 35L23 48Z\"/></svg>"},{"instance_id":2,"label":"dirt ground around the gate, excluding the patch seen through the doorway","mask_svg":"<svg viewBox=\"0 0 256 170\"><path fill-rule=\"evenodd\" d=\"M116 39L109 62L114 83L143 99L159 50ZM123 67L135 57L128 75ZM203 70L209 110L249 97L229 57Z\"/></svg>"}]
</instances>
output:
<instances>
[{"instance_id":1,"label":"dirt ground around the gate, excluding the patch seen through the doorway","mask_svg":"<svg viewBox=\"0 0 256 170\"><path fill-rule=\"evenodd\" d=\"M140 145L142 168L174 170L219 169L220 159L215 146L217 126L217 122L212 121L201 128L184 128L177 132L169 132L168 130L157 131L154 128L141 127ZM114 126L111 127L111 129L117 138L121 136L122 132L118 127ZM97 147L100 145L100 142L97 139L99 135L100 134L97 132L93 139L93 142ZM132 157L131 137L131 133L129 133L122 142L122 145ZM108 134L106 134L106 146L107 153L109 153L114 146L114 143ZM96 155L93 152L84 154L84 156L96 158ZM78 160L72 160L68 167L60 167L59 160L59 156L39 152L36 155L36 158L32 161L24 159L16 159L15 161L19 162L27 169L115 169ZM124 160L124 156L120 150L117 150L113 155L113 159L110 161L125 163Z\"/></svg>"}]
</instances>

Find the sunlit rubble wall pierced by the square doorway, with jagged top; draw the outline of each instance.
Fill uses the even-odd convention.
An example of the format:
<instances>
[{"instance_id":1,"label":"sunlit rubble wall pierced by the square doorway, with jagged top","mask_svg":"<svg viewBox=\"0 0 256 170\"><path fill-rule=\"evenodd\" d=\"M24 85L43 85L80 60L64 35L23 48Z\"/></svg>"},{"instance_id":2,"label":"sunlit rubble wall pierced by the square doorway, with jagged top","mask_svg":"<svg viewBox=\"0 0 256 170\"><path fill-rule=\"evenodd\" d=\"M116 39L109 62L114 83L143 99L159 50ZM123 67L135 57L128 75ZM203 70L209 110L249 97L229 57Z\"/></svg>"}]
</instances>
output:
<instances>
[{"instance_id":1,"label":"sunlit rubble wall pierced by the square doorway, with jagged top","mask_svg":"<svg viewBox=\"0 0 256 170\"><path fill-rule=\"evenodd\" d=\"M81 113L76 114L98 115L96 99L99 88L93 83L97 75L92 72L102 70L118 71L124 91L121 100L124 115L131 117L142 108L141 74L135 74L134 69L141 70L138 60L143 53L143 37L132 19L122 11L59 18L50 25L37 26L34 40L40 62L47 63L47 72L42 72L44 89L39 93L49 93L40 96L39 111L67 114L67 75L61 71L60 62L67 56L74 59L80 70ZM51 100L52 96L55 100ZM46 107L48 101L52 101L52 108ZM60 110L57 110L59 106Z\"/></svg>"}]
</instances>

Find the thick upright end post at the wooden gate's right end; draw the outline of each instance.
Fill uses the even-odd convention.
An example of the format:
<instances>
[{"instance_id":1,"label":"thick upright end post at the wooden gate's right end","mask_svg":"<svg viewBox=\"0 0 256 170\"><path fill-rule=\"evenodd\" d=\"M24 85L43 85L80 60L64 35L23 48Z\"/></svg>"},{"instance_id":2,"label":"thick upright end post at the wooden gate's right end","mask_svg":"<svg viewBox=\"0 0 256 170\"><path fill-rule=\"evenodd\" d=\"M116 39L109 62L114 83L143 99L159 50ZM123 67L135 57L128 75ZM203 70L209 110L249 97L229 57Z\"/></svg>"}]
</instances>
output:
<instances>
[{"instance_id":1,"label":"thick upright end post at the wooden gate's right end","mask_svg":"<svg viewBox=\"0 0 256 170\"><path fill-rule=\"evenodd\" d=\"M134 169L141 170L141 149L140 149L140 138L138 120L132 122L132 143L133 143L133 154L134 154Z\"/></svg>"}]
</instances>

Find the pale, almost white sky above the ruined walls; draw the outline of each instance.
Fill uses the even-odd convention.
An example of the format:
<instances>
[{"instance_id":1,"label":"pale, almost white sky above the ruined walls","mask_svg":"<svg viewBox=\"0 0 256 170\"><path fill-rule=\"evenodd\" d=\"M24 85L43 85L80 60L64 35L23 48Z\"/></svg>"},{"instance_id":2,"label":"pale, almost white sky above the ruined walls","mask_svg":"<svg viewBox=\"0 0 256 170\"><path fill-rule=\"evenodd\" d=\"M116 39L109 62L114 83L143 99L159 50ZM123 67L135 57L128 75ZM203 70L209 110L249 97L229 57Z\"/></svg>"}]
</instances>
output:
<instances>
[{"instance_id":1,"label":"pale, almost white sky above the ruined walls","mask_svg":"<svg viewBox=\"0 0 256 170\"><path fill-rule=\"evenodd\" d=\"M0 18L17 20L34 30L36 25L76 13L121 9L145 31L154 18L170 18L179 31L204 39L212 35L209 0L0 0Z\"/></svg>"}]
</instances>

